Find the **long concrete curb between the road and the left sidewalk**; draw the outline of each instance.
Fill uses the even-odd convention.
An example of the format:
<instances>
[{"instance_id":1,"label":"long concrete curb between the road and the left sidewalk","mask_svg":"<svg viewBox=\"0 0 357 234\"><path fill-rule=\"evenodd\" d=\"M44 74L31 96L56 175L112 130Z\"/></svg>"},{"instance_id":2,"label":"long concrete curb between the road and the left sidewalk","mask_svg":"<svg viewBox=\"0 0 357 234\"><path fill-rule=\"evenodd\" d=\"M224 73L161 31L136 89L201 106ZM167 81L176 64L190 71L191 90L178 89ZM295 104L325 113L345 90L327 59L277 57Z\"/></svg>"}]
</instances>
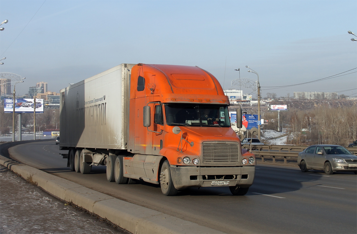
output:
<instances>
[{"instance_id":1,"label":"long concrete curb between the road and the left sidewalk","mask_svg":"<svg viewBox=\"0 0 357 234\"><path fill-rule=\"evenodd\" d=\"M37 183L52 195L76 204L134 234L222 233L167 214L119 200L0 155L0 164Z\"/></svg>"}]
</instances>

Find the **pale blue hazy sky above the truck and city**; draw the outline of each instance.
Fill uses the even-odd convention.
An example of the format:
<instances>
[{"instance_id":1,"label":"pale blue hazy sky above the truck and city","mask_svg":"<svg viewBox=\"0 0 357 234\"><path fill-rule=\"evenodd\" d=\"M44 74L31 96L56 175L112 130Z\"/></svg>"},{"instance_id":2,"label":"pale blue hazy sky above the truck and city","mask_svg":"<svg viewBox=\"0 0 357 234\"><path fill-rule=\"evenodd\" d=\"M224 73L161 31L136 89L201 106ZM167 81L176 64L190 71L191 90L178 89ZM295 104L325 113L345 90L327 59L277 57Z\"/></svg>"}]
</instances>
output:
<instances>
[{"instance_id":1,"label":"pale blue hazy sky above the truck and city","mask_svg":"<svg viewBox=\"0 0 357 234\"><path fill-rule=\"evenodd\" d=\"M37 13L36 13L37 12ZM32 19L31 19L32 18ZM357 1L0 1L1 72L59 92L121 63L176 64L210 71L224 88L256 80L262 96L294 91L356 96ZM27 26L26 26L27 25ZM357 39L357 37L354 37ZM343 73L345 74L345 73ZM354 90L350 90L354 89ZM243 92L252 91L243 89Z\"/></svg>"}]
</instances>

